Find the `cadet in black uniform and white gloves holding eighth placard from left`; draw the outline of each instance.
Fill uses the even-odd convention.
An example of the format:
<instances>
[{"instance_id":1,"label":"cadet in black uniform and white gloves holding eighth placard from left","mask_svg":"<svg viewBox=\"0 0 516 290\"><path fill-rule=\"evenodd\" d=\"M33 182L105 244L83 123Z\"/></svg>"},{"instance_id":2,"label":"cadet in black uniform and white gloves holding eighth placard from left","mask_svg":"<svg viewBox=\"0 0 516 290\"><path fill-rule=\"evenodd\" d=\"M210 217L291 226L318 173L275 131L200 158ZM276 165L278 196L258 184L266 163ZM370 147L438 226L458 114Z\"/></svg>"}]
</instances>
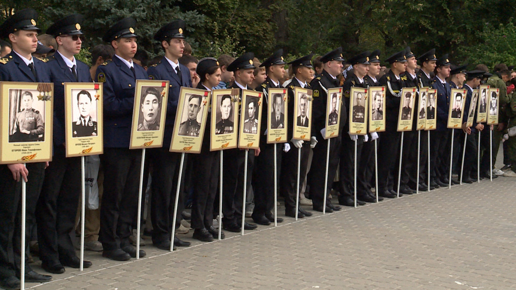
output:
<instances>
[{"instance_id":1,"label":"cadet in black uniform and white gloves holding eighth placard from left","mask_svg":"<svg viewBox=\"0 0 516 290\"><path fill-rule=\"evenodd\" d=\"M303 140L295 140L293 138L294 131L294 90L295 87L311 89L310 85L307 84L312 77L312 57L313 54L303 56L296 60L288 63L292 65L292 71L294 77L291 83L288 84L288 99L286 106L288 106L287 116L287 140L289 142L283 145L283 159L281 161L281 179L280 179L280 192L285 199L285 215L287 217L296 217L296 192L297 188L297 167L298 167L298 150L291 150L292 147L301 149L301 160L299 163L299 184L304 183L305 176L307 176L308 167L308 156L310 154L310 142ZM326 158L326 157L325 157ZM301 188L300 188L301 189ZM312 213L303 210L300 206L298 207L298 218L305 216L312 216Z\"/></svg>"}]
</instances>

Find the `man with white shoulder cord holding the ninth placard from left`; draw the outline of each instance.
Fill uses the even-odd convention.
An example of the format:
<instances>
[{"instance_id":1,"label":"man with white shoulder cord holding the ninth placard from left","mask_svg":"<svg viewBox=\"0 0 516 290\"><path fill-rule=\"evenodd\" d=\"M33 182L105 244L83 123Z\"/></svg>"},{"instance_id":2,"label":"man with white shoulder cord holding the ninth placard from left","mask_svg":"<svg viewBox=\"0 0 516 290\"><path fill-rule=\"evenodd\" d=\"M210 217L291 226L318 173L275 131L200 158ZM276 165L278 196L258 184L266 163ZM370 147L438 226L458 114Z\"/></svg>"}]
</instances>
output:
<instances>
[{"instance_id":1,"label":"man with white shoulder cord holding the ninth placard from left","mask_svg":"<svg viewBox=\"0 0 516 290\"><path fill-rule=\"evenodd\" d=\"M328 89L339 87L337 75L342 70L342 47L333 50L321 57L322 72L319 76L312 79L310 86L313 89L312 103L312 137L310 147L313 148L312 165L308 176L308 184L310 184L310 196L313 203L314 211L322 212L325 191L325 179L327 178L327 194L331 192L333 179L338 167L338 155L341 149L342 128L347 123L347 108L343 104L341 107L341 123L338 131L341 132L337 137L331 138L330 142L330 159L328 164L328 176L326 176L326 154L328 152L328 140L324 138L326 130L326 107L328 101ZM315 146L317 143L318 146ZM322 162L322 160L325 160ZM327 195L325 212L340 211L341 207L333 205Z\"/></svg>"}]
</instances>

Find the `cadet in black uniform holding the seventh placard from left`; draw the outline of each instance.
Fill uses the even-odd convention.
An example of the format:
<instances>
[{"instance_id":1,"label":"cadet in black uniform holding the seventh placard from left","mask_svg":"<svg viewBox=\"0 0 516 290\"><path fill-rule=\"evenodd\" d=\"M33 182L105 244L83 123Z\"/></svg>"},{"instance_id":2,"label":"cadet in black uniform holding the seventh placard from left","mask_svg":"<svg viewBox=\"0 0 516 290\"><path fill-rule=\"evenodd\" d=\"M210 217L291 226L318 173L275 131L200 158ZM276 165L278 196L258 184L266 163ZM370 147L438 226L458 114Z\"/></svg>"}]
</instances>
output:
<instances>
[{"instance_id":1,"label":"cadet in black uniform holding the seventh placard from left","mask_svg":"<svg viewBox=\"0 0 516 290\"><path fill-rule=\"evenodd\" d=\"M256 168L260 169L259 174L255 175L253 182L254 190L254 210L252 214L253 221L257 224L268 225L274 221L274 216L271 213L274 207L274 149L276 147L276 165L278 181L281 174L281 144L267 144L267 116L268 111L271 107L274 109L281 109L281 95L278 98L276 95L268 95L269 88L282 88L280 79L285 75L285 64L283 61L283 50L278 50L267 58L260 66L265 67L267 78L265 82L256 88L257 91L263 92L264 102L262 102L262 127L260 128L260 155L256 159ZM277 100L281 100L277 105ZM274 104L274 105L272 105ZM276 111L276 110L275 110ZM273 120L271 123L276 122L279 119L281 124L281 116L283 112L280 112L276 118L275 111L271 114ZM283 116L283 124L284 124ZM292 126L292 124L289 124ZM279 127L277 124L276 126ZM280 126L281 128L281 126ZM279 183L279 182L278 182ZM279 186L277 187L279 188ZM278 222L282 222L283 219L277 218Z\"/></svg>"}]
</instances>

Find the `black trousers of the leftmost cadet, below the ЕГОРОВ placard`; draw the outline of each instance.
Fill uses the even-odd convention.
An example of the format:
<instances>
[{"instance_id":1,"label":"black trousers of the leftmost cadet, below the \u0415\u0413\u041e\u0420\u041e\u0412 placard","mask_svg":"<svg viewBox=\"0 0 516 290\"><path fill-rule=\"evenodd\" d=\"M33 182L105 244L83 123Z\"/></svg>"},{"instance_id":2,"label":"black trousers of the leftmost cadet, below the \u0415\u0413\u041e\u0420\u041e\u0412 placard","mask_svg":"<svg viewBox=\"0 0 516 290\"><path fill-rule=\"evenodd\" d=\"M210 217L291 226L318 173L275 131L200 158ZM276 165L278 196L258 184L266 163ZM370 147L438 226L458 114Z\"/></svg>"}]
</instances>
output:
<instances>
[{"instance_id":1,"label":"black trousers of the leftmost cadet, below the \u0415\u0413\u041e\u0420\u041e\u0412 placard","mask_svg":"<svg viewBox=\"0 0 516 290\"><path fill-rule=\"evenodd\" d=\"M26 184L25 272L31 270L28 259L30 229L34 227L36 202L43 185L45 163L27 163ZM21 255L21 189L7 165L0 165L0 278L20 271ZM77 208L75 208L76 210Z\"/></svg>"}]
</instances>

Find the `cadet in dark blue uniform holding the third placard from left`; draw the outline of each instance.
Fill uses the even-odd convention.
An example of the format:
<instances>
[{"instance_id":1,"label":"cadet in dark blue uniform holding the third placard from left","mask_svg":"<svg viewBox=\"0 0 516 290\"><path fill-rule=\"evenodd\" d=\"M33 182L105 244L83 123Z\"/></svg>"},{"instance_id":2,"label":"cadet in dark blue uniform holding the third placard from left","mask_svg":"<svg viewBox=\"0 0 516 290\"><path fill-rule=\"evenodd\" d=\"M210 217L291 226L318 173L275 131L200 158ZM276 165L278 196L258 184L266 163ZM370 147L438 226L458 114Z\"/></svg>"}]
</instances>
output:
<instances>
[{"instance_id":1,"label":"cadet in dark blue uniform holding the third placard from left","mask_svg":"<svg viewBox=\"0 0 516 290\"><path fill-rule=\"evenodd\" d=\"M129 150L136 79L147 72L132 57L136 53L136 21L125 18L111 26L102 40L115 49L113 58L97 68L95 80L104 83L104 195L99 240L102 255L126 261L136 257L131 245L131 222L137 212L141 151ZM140 257L145 256L140 250Z\"/></svg>"}]
</instances>

